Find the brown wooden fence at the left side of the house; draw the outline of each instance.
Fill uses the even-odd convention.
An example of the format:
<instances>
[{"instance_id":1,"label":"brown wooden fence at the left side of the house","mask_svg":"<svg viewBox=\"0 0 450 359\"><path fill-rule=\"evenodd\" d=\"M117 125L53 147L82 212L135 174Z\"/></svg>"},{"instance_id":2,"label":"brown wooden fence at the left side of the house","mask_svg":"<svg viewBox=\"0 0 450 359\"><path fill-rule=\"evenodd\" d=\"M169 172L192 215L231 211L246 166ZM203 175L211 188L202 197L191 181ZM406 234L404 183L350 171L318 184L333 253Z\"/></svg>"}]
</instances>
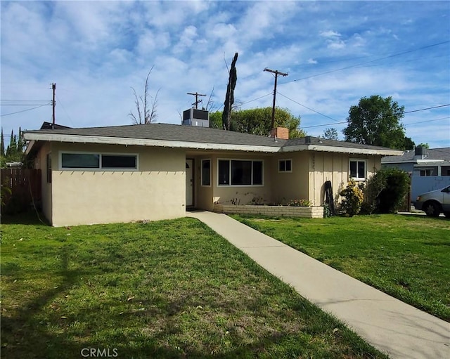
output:
<instances>
[{"instance_id":1,"label":"brown wooden fence at the left side of the house","mask_svg":"<svg viewBox=\"0 0 450 359\"><path fill-rule=\"evenodd\" d=\"M33 201L35 205L40 204L40 169L1 169L0 180L2 213L15 214L27 211Z\"/></svg>"}]
</instances>

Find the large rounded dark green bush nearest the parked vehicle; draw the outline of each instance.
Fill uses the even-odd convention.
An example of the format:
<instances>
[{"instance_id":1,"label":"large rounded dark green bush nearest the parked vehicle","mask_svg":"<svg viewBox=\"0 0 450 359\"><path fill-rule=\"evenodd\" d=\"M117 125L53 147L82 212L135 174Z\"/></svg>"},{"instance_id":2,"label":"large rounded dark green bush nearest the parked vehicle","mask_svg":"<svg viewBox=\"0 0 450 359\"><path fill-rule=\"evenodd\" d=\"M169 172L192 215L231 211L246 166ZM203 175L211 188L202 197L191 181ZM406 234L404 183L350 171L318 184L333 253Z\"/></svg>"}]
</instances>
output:
<instances>
[{"instance_id":1,"label":"large rounded dark green bush nearest the parked vehicle","mask_svg":"<svg viewBox=\"0 0 450 359\"><path fill-rule=\"evenodd\" d=\"M364 199L371 213L395 213L409 192L409 174L402 169L380 169L366 183Z\"/></svg>"}]
</instances>

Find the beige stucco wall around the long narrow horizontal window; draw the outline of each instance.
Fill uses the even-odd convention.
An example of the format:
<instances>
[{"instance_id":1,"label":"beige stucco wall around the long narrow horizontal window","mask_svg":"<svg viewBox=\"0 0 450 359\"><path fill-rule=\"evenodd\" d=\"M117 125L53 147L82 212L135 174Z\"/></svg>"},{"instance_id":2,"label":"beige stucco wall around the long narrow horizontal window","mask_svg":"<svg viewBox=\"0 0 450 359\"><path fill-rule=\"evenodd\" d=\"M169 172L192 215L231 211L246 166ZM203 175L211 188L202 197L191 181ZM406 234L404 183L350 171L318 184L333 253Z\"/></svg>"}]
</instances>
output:
<instances>
[{"instance_id":1,"label":"beige stucco wall around the long narrow horizontal window","mask_svg":"<svg viewBox=\"0 0 450 359\"><path fill-rule=\"evenodd\" d=\"M136 171L60 169L60 151L137 154ZM185 215L183 150L53 144L53 226L158 220Z\"/></svg>"}]
</instances>

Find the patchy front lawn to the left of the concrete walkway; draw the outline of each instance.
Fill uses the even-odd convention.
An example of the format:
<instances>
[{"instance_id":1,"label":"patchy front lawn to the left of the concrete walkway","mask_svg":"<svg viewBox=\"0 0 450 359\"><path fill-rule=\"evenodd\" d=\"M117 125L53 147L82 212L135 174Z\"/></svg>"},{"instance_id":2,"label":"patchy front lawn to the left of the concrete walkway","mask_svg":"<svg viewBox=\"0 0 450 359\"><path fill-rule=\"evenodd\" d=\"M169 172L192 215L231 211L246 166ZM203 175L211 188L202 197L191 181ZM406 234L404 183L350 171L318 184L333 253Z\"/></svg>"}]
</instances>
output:
<instances>
[{"instance_id":1,"label":"patchy front lawn to the left of the concrete walkway","mask_svg":"<svg viewBox=\"0 0 450 359\"><path fill-rule=\"evenodd\" d=\"M193 218L1 230L4 358L386 358Z\"/></svg>"}]
</instances>

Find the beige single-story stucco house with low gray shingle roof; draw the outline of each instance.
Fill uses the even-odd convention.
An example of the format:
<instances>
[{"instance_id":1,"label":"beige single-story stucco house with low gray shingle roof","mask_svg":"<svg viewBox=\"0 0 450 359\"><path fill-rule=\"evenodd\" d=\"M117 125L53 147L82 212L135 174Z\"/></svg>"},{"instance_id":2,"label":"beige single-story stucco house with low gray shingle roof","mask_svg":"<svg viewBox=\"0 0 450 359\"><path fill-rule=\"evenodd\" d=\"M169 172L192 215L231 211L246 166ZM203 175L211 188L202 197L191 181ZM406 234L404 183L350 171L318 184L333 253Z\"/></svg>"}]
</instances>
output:
<instances>
[{"instance_id":1,"label":"beige single-story stucco house with low gray shingle roof","mask_svg":"<svg viewBox=\"0 0 450 359\"><path fill-rule=\"evenodd\" d=\"M193 122L191 122L193 123ZM53 226L158 220L186 207L324 201L349 177L364 181L388 148L307 136L288 139L174 124L26 131L42 169L42 207ZM336 196L337 197L337 196Z\"/></svg>"}]
</instances>

